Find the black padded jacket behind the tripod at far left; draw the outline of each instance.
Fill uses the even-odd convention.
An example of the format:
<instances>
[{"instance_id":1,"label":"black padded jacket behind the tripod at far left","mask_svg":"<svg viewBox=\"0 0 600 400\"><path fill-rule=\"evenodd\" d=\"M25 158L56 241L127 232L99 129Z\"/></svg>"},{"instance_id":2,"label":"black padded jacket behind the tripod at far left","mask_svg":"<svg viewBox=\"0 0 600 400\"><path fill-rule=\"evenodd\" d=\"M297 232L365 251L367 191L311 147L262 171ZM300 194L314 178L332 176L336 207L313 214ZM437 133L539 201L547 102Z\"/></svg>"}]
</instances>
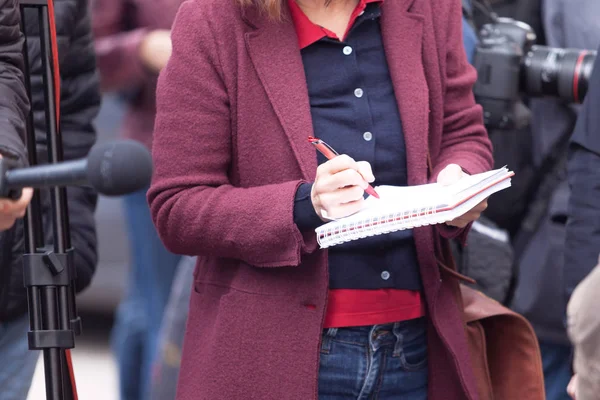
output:
<instances>
[{"instance_id":1,"label":"black padded jacket behind the tripod at far left","mask_svg":"<svg viewBox=\"0 0 600 400\"><path fill-rule=\"evenodd\" d=\"M0 36L3 42L0 55L14 54L18 61L18 31L15 24L20 16L15 7L17 0L0 0ZM92 125L100 106L99 80L92 43L90 17L86 0L54 0L58 35L58 54L61 73L61 132L65 160L85 157L95 142ZM30 60L32 108L36 128L38 162L47 157L44 98L42 85L42 65L37 15L28 9L26 36ZM5 43L3 32L13 35L13 40ZM12 53L9 53L12 51ZM12 76L13 78L9 78ZM22 98L22 87L17 83L17 68L0 65L0 123L13 125L11 130L0 126L0 146L3 154L21 157L23 146L16 140L22 133L22 108L11 107L11 98ZM9 82L8 85L4 82ZM19 93L15 95L14 93ZM8 106L4 103L7 103ZM72 245L75 248L77 268L77 290L89 285L97 261L94 211L97 195L88 187L72 187L67 190L69 220ZM50 201L47 191L42 192L46 237L51 239ZM20 255L23 247L23 223L19 221L14 229L0 234L0 320L22 315L27 310L25 290L22 282Z\"/></svg>"}]
</instances>

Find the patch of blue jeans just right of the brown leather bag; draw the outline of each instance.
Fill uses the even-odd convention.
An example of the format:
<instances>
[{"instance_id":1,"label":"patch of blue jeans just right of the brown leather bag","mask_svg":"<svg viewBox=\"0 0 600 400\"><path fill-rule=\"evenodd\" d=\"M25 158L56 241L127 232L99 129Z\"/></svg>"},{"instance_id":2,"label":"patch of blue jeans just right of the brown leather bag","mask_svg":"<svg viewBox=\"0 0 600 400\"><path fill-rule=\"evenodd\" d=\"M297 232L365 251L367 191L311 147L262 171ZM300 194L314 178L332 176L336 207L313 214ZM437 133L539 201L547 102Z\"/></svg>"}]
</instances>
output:
<instances>
[{"instance_id":1,"label":"patch of blue jeans just right of the brown leather bag","mask_svg":"<svg viewBox=\"0 0 600 400\"><path fill-rule=\"evenodd\" d=\"M567 385L571 380L570 346L540 342L542 365L544 366L544 384L546 400L571 400L567 394Z\"/></svg>"}]
</instances>

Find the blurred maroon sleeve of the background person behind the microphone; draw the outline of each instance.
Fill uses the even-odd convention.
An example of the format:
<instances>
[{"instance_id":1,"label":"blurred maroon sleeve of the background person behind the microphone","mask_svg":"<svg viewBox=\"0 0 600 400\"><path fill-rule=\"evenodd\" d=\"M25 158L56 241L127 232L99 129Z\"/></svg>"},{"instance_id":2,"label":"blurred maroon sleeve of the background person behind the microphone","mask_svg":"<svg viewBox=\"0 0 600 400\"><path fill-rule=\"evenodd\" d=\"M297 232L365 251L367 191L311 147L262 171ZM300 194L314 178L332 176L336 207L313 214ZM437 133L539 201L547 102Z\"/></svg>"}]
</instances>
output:
<instances>
[{"instance_id":1,"label":"blurred maroon sleeve of the background person behind the microphone","mask_svg":"<svg viewBox=\"0 0 600 400\"><path fill-rule=\"evenodd\" d=\"M151 74L142 64L138 48L146 28L128 29L131 0L96 0L93 2L92 26L102 90L134 88Z\"/></svg>"}]
</instances>

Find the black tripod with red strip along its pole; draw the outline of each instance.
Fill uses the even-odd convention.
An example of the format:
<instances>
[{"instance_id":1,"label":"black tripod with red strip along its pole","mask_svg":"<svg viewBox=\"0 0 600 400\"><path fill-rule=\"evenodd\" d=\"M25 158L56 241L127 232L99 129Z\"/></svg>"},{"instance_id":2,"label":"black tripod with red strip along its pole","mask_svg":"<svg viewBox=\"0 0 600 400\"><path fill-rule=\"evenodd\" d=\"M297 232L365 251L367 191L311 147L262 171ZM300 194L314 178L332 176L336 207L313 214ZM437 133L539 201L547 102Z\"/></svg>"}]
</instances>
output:
<instances>
[{"instance_id":1,"label":"black tripod with red strip along its pole","mask_svg":"<svg viewBox=\"0 0 600 400\"><path fill-rule=\"evenodd\" d=\"M26 17L37 14L44 87L45 127L48 162L63 159L62 136L58 124L60 87L56 57L56 33L52 0L20 0L21 29L25 35L25 84L31 100L30 68ZM31 14L29 14L31 13ZM27 14L27 15L26 15ZM33 102L31 102L33 104ZM26 121L26 145L29 164L37 165L33 110ZM81 333L81 319L75 305L76 276L71 248L68 207L65 188L49 189L53 241L49 246L44 235L40 192L35 191L25 216L25 254L23 276L27 289L30 331L29 349L42 350L48 400L77 400L70 352L75 335Z\"/></svg>"}]
</instances>

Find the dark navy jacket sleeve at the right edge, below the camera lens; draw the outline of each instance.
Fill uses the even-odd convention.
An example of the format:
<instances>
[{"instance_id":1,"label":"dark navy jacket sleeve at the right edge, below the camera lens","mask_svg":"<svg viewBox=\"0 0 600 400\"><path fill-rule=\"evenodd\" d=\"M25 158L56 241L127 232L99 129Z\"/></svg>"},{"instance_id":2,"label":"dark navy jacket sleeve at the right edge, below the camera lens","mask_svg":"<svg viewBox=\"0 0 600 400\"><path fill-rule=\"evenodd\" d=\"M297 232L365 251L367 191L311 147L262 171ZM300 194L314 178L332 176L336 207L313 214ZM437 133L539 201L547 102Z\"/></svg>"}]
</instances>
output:
<instances>
[{"instance_id":1,"label":"dark navy jacket sleeve at the right edge, below the camera lens","mask_svg":"<svg viewBox=\"0 0 600 400\"><path fill-rule=\"evenodd\" d=\"M565 296L598 264L600 253L600 57L579 113L568 162L571 187L567 222ZM599 288L600 290L600 288Z\"/></svg>"}]
</instances>

